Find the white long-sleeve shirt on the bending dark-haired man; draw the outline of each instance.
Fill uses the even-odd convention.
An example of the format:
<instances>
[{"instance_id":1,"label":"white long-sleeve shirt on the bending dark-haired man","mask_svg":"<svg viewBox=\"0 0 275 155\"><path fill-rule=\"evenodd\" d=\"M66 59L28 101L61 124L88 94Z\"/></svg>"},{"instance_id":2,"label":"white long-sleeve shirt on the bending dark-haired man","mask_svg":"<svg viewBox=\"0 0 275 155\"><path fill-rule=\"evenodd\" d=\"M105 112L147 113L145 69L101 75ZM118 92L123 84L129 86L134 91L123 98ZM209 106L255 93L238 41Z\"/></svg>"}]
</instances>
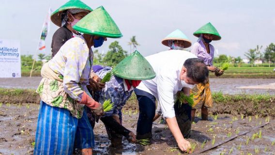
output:
<instances>
[{"instance_id":1,"label":"white long-sleeve shirt on the bending dark-haired man","mask_svg":"<svg viewBox=\"0 0 275 155\"><path fill-rule=\"evenodd\" d=\"M174 95L183 88L180 80L183 63L197 57L184 50L167 50L145 58L152 65L156 77L143 80L137 89L155 96L164 117L175 117Z\"/></svg>"}]
</instances>

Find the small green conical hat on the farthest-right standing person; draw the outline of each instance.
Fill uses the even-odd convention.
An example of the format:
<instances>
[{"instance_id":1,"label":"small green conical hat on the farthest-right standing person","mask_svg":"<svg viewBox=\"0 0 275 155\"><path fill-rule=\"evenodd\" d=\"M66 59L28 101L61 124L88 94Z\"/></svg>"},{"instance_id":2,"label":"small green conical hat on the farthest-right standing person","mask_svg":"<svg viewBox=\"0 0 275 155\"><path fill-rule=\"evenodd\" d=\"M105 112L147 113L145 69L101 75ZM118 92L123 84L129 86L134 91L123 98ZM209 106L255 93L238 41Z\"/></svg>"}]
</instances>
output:
<instances>
[{"instance_id":1,"label":"small green conical hat on the farthest-right standing person","mask_svg":"<svg viewBox=\"0 0 275 155\"><path fill-rule=\"evenodd\" d=\"M199 37L200 34L213 34L213 40L220 40L222 37L215 27L209 22L203 25L199 30L193 33L196 37Z\"/></svg>"}]
</instances>

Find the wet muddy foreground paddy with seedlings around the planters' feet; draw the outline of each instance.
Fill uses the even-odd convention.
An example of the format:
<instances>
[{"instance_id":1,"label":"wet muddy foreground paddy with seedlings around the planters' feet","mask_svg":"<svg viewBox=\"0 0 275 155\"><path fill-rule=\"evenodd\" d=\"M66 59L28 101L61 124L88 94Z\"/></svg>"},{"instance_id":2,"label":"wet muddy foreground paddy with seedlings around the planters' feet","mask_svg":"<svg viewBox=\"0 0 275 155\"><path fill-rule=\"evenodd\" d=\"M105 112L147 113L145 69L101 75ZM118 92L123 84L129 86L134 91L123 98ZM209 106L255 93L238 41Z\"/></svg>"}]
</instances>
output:
<instances>
[{"instance_id":1,"label":"wet muddy foreground paddy with seedlings around the planters' feet","mask_svg":"<svg viewBox=\"0 0 275 155\"><path fill-rule=\"evenodd\" d=\"M0 105L0 155L31 155L33 153L32 142L35 139L37 104L2 104ZM122 124L136 131L138 111L123 110ZM130 113L130 114L129 114ZM192 136L190 142L196 143L195 151L202 150L218 143L237 133L251 130L253 127L268 121L268 118L257 116L242 118L232 115L211 116L210 121L201 121L200 113L196 114L195 124L192 124ZM184 154L177 149L177 143L171 135L166 124L159 124L156 120L153 124L153 141L149 146L128 143L123 141L122 148L110 147L110 141L104 124L95 125L95 155L178 155ZM261 132L261 134L260 134ZM257 134L256 134L257 133ZM275 155L275 120L270 118L270 124L260 129L237 137L217 148L202 155L255 155L255 148L259 148L259 155ZM254 134L254 136L253 136ZM261 136L260 136L261 135ZM249 138L249 140L247 140ZM202 146L205 141L205 145ZM246 144L246 141L248 143Z\"/></svg>"}]
</instances>

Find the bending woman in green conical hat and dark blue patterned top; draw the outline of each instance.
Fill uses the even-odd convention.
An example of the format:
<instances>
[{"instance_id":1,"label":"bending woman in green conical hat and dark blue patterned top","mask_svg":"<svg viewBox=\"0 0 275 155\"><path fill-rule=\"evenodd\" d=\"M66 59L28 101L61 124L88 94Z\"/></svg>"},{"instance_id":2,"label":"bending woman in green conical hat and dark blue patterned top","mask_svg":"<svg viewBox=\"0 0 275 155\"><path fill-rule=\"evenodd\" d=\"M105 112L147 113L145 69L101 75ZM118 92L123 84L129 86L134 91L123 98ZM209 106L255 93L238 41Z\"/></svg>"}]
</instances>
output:
<instances>
[{"instance_id":1,"label":"bending woman in green conical hat and dark blue patterned top","mask_svg":"<svg viewBox=\"0 0 275 155\"><path fill-rule=\"evenodd\" d=\"M93 70L100 78L103 78L112 68L95 65ZM111 110L100 117L100 120L106 127L111 146L118 147L122 146L122 136L129 142L137 142L136 135L122 126L121 110L141 80L152 79L155 73L150 63L138 51L124 58L113 68L112 72L114 76L105 83L105 88L93 91L93 97L101 104L108 99L111 99L111 103L114 104ZM97 120L92 110L88 110L87 114L90 123L94 126Z\"/></svg>"}]
</instances>

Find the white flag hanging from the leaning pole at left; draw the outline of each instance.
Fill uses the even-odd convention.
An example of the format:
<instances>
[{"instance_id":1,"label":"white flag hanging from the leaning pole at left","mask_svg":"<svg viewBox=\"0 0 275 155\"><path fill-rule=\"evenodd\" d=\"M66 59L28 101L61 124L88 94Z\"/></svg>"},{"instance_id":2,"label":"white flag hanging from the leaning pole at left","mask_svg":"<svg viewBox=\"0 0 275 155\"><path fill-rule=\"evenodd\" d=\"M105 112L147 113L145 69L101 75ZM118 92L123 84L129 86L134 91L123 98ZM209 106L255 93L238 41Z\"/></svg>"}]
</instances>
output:
<instances>
[{"instance_id":1,"label":"white flag hanging from the leaning pole at left","mask_svg":"<svg viewBox=\"0 0 275 155\"><path fill-rule=\"evenodd\" d=\"M49 8L49 11L47 13L46 19L44 21L43 27L42 27L42 33L41 33L41 37L39 40L39 44L38 44L38 50L40 51L44 51L46 46L45 46L45 39L47 36L47 33L50 30L50 16L51 16L51 8Z\"/></svg>"}]
</instances>

